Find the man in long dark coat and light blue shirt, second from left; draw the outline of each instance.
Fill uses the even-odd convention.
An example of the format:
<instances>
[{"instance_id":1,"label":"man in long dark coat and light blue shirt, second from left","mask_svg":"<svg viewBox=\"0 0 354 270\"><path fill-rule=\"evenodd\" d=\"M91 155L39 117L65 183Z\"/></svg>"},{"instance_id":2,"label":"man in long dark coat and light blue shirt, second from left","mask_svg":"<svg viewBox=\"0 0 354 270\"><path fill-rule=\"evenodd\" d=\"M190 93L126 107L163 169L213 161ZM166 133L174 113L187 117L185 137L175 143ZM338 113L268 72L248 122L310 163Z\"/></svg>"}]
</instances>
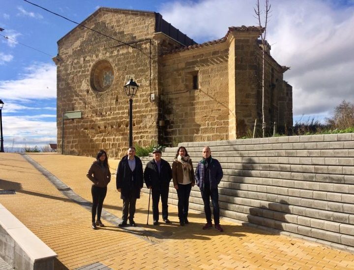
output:
<instances>
[{"instance_id":1,"label":"man in long dark coat and light blue shirt, second from left","mask_svg":"<svg viewBox=\"0 0 354 270\"><path fill-rule=\"evenodd\" d=\"M128 155L121 159L117 169L117 190L120 192L120 199L123 200L122 222L119 227L127 225L128 219L131 226L136 226L134 222L135 204L140 198L143 183L142 161L135 156L135 148L129 147Z\"/></svg>"}]
</instances>

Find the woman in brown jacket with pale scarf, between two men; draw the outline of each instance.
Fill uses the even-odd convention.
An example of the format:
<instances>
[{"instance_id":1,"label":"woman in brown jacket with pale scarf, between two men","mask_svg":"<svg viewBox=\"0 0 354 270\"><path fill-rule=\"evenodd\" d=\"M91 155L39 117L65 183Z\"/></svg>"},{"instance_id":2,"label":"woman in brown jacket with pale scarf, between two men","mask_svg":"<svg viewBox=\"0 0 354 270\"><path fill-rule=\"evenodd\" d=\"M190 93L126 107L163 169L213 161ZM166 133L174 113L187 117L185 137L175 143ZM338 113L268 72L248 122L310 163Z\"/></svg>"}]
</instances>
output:
<instances>
[{"instance_id":1,"label":"woman in brown jacket with pale scarf, between two men","mask_svg":"<svg viewBox=\"0 0 354 270\"><path fill-rule=\"evenodd\" d=\"M188 224L189 195L195 184L192 161L184 146L177 150L176 158L172 164L172 179L178 196L179 225Z\"/></svg>"}]
</instances>

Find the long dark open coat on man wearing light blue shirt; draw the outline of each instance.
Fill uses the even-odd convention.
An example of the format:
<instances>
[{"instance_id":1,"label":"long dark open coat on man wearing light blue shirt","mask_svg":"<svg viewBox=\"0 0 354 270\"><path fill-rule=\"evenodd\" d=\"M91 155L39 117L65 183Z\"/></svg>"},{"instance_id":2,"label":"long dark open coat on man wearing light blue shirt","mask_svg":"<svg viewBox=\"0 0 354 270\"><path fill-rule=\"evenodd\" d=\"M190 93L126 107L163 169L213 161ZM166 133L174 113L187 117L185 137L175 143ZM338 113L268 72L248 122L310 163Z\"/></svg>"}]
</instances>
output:
<instances>
[{"instance_id":1,"label":"long dark open coat on man wearing light blue shirt","mask_svg":"<svg viewBox=\"0 0 354 270\"><path fill-rule=\"evenodd\" d=\"M140 189L143 187L143 163L135 156L135 169L132 171L128 164L128 155L124 156L118 164L117 189L120 188L120 198L127 199L130 196L140 198Z\"/></svg>"}]
</instances>

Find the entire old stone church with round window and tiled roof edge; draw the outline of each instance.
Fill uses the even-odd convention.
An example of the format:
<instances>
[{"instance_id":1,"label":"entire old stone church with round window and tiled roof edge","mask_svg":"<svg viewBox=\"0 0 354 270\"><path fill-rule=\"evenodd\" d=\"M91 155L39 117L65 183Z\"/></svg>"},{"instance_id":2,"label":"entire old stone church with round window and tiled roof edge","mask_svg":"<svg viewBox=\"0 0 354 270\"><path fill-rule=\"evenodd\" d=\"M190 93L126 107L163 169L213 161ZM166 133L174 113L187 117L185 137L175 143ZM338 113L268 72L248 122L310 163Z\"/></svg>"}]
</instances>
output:
<instances>
[{"instance_id":1,"label":"entire old stone church with round window and tiled roof edge","mask_svg":"<svg viewBox=\"0 0 354 270\"><path fill-rule=\"evenodd\" d=\"M90 28L91 30L85 28ZM92 31L93 30L93 31ZM128 147L129 99L134 145L232 140L262 129L262 45L258 27L229 27L218 40L197 44L161 14L99 8L58 41L58 149L121 157ZM105 35L99 34L103 33ZM266 44L265 114L268 132L293 126L287 67ZM81 111L81 118L63 113ZM63 131L63 133L62 133Z\"/></svg>"}]
</instances>

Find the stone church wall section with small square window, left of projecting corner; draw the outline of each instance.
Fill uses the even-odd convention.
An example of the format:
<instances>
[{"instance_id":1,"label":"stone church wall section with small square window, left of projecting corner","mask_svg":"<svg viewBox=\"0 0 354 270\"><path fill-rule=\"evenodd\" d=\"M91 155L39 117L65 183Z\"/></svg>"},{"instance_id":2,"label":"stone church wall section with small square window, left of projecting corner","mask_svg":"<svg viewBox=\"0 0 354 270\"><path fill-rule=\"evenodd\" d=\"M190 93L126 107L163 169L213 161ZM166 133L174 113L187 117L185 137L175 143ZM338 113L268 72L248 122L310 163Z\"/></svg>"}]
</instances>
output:
<instances>
[{"instance_id":1,"label":"stone church wall section with small square window, left of projecting corner","mask_svg":"<svg viewBox=\"0 0 354 270\"><path fill-rule=\"evenodd\" d=\"M228 138L228 53L220 43L162 57L165 142Z\"/></svg>"}]
</instances>

